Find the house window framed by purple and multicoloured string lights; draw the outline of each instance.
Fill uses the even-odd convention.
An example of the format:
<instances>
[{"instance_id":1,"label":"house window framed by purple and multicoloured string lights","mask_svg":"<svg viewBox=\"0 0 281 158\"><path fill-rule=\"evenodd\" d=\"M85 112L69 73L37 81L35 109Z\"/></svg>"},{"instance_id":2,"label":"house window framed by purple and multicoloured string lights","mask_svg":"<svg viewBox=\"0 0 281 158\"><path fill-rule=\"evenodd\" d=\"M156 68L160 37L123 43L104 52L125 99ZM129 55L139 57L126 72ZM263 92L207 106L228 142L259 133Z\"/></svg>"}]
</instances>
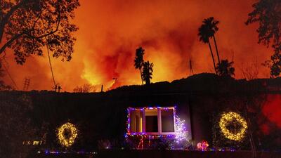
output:
<instances>
[{"instance_id":1,"label":"house window framed by purple and multicoloured string lights","mask_svg":"<svg viewBox=\"0 0 281 158\"><path fill-rule=\"evenodd\" d=\"M131 134L170 135L175 132L174 107L129 107Z\"/></svg>"}]
</instances>

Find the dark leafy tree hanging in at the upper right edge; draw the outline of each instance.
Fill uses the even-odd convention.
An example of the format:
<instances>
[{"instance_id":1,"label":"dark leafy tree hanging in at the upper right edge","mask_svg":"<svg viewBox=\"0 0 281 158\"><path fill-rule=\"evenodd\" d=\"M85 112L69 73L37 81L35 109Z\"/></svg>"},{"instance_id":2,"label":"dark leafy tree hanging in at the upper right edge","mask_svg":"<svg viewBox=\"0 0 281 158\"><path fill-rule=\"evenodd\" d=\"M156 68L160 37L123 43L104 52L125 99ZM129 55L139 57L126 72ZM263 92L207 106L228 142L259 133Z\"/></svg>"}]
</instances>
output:
<instances>
[{"instance_id":1,"label":"dark leafy tree hanging in at the upper right edge","mask_svg":"<svg viewBox=\"0 0 281 158\"><path fill-rule=\"evenodd\" d=\"M274 53L268 60L270 74L277 77L281 72L281 1L259 0L253 4L254 11L249 13L246 25L259 22L259 44L271 44Z\"/></svg>"}]
</instances>

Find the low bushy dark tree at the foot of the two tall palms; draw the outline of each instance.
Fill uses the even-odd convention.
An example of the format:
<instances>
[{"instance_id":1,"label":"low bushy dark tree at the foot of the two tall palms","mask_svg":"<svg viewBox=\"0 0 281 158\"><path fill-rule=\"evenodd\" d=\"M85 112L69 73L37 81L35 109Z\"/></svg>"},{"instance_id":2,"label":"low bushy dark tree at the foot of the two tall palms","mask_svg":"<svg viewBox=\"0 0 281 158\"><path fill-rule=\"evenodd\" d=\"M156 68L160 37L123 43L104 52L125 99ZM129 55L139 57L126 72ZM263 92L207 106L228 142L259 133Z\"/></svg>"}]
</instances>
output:
<instances>
[{"instance_id":1,"label":"low bushy dark tree at the foot of the two tall palms","mask_svg":"<svg viewBox=\"0 0 281 158\"><path fill-rule=\"evenodd\" d=\"M216 66L216 71L221 77L234 77L235 68L234 62L228 62L228 60L221 60L221 63Z\"/></svg>"}]
</instances>

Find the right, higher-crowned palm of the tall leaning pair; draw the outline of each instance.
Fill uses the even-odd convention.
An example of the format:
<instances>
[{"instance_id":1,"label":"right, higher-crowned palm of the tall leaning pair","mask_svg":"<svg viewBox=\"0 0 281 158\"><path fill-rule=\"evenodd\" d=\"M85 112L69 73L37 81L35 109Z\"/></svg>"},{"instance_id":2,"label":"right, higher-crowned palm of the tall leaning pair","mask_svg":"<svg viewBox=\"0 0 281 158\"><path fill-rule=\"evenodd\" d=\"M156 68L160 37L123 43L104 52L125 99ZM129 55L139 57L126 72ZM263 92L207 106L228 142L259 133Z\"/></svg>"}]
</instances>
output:
<instances>
[{"instance_id":1,"label":"right, higher-crowned palm of the tall leaning pair","mask_svg":"<svg viewBox=\"0 0 281 158\"><path fill-rule=\"evenodd\" d=\"M219 21L215 20L214 17L210 17L207 19L203 20L203 25L206 25L207 28L209 29L209 37L214 39L214 43L216 46L216 55L218 57L218 64L221 62L219 55L218 55L218 46L216 45L216 38L215 38L215 34L218 31L218 25Z\"/></svg>"}]
</instances>

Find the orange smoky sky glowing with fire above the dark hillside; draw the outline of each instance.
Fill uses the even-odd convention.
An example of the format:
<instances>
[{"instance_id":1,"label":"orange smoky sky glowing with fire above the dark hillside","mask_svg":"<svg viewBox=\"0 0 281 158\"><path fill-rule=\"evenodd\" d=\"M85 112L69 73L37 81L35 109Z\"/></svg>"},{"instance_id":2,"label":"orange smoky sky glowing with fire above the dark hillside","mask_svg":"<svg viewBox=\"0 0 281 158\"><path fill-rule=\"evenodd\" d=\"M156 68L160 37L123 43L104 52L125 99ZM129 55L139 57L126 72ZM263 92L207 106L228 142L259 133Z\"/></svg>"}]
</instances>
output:
<instances>
[{"instance_id":1,"label":"orange smoky sky glowing with fire above the dark hillside","mask_svg":"<svg viewBox=\"0 0 281 158\"><path fill-rule=\"evenodd\" d=\"M246 26L247 14L254 0L93 0L80 1L74 23L79 27L73 59L61 62L52 58L55 80L63 91L82 84L113 86L141 84L139 71L133 67L135 49L145 48L145 60L153 62L152 82L188 77L188 61L195 73L212 72L211 55L201 44L197 29L204 18L214 16L221 23L216 34L221 58L234 60L235 78L242 78L240 67L254 60L259 63L273 52L257 44L256 25ZM48 58L33 56L25 65L16 65L7 53L8 70L18 89L23 79L31 79L29 90L51 90L53 85ZM259 77L269 77L261 67ZM7 84L11 84L8 76Z\"/></svg>"}]
</instances>

